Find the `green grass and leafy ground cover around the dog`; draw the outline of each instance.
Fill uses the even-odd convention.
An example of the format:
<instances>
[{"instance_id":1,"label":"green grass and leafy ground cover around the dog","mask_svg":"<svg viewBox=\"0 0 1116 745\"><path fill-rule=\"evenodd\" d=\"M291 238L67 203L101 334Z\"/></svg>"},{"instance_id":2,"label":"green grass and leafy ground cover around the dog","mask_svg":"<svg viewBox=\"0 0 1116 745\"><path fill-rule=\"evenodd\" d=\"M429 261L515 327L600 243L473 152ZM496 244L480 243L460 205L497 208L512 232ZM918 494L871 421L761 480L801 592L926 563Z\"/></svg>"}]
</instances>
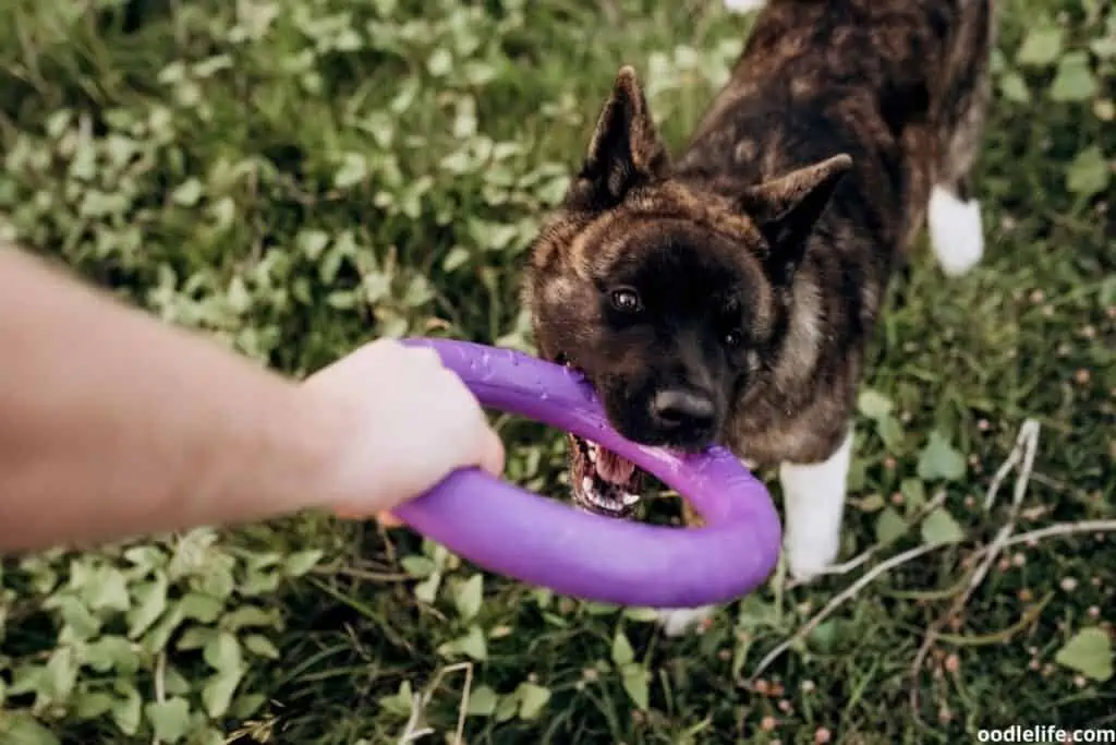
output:
<instances>
[{"instance_id":1,"label":"green grass and leafy ground cover around the dog","mask_svg":"<svg viewBox=\"0 0 1116 745\"><path fill-rule=\"evenodd\" d=\"M703 633L668 640L646 613L479 573L407 533L314 516L253 526L206 544L248 569L220 614L195 619L262 649L229 619L253 602L281 615L276 655L229 663L230 708L202 689L232 669L213 663L220 646L206 646L209 668L162 639L131 666L40 675L44 659L88 649L65 633L69 606L50 602L60 577L108 566L133 603L151 586L109 550L6 562L0 732L138 743L163 727L160 742L176 742L177 723L199 743L388 743L424 729L422 742L450 743L463 710L474 744L953 743L982 727L1116 727L1116 538L1014 544L951 612L1001 526L1110 520L1116 498L1116 13L1096 0L998 6L978 174L989 252L947 279L920 250L874 341L843 553L878 545L867 564L805 588L776 576ZM751 22L715 2L635 0L50 0L0 18L4 229L295 375L384 334L530 350L518 267L616 69L637 67L681 145ZM1029 419L1040 431L1019 515L1002 495L985 510ZM499 421L509 477L560 495L559 436ZM904 523L934 498L930 518ZM751 679L857 577L935 541ZM323 552L308 573L252 574L307 548ZM175 592L155 618L181 610ZM167 665L183 678L167 694L181 710L152 693ZM95 690L109 708L92 710ZM30 739L44 732L56 739Z\"/></svg>"}]
</instances>

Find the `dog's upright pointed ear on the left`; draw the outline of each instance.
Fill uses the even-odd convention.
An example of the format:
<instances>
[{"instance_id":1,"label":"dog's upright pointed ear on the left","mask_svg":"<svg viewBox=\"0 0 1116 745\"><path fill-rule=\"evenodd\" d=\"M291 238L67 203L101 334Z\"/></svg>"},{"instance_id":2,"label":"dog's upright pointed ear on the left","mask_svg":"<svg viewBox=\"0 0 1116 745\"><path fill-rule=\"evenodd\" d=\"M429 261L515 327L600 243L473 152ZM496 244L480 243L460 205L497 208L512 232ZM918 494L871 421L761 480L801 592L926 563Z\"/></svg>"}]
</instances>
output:
<instances>
[{"instance_id":1,"label":"dog's upright pointed ear on the left","mask_svg":"<svg viewBox=\"0 0 1116 745\"><path fill-rule=\"evenodd\" d=\"M662 179L668 169L670 153L658 137L643 87L635 69L625 65L597 120L566 204L579 210L609 209L633 187Z\"/></svg>"}]
</instances>

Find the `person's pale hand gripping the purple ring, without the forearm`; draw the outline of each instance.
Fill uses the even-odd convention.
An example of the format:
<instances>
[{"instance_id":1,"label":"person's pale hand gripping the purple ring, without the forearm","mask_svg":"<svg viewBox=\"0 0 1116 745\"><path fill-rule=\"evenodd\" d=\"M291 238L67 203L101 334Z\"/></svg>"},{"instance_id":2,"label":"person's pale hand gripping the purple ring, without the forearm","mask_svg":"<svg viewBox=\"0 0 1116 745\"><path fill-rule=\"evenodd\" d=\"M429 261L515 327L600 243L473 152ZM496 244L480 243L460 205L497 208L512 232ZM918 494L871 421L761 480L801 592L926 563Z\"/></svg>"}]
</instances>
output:
<instances>
[{"instance_id":1,"label":"person's pale hand gripping the purple ring, without the forearm","mask_svg":"<svg viewBox=\"0 0 1116 745\"><path fill-rule=\"evenodd\" d=\"M460 378L433 350L371 342L302 384L314 405L336 416L337 450L326 478L330 508L349 518L389 510L451 471L503 471L504 449Z\"/></svg>"}]
</instances>

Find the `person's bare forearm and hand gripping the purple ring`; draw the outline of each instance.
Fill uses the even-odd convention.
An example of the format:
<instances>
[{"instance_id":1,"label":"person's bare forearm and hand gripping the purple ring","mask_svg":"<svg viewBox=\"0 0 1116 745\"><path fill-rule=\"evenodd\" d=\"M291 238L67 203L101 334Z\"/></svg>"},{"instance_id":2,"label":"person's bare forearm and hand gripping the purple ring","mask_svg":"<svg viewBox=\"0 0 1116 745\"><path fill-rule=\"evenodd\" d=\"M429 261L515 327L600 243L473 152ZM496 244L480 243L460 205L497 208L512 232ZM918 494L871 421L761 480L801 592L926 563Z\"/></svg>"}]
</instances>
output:
<instances>
[{"instance_id":1,"label":"person's bare forearm and hand gripping the purple ring","mask_svg":"<svg viewBox=\"0 0 1116 745\"><path fill-rule=\"evenodd\" d=\"M503 469L461 380L372 342L305 383L0 245L0 554L328 509Z\"/></svg>"}]
</instances>

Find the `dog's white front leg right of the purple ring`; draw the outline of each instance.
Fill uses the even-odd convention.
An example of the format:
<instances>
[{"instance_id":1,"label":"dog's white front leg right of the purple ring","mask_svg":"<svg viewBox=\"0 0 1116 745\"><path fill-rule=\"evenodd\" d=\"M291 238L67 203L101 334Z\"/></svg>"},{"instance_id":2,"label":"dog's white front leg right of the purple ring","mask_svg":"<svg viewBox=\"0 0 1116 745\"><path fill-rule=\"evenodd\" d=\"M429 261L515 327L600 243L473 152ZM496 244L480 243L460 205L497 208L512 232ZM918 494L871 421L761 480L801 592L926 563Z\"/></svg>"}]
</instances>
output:
<instances>
[{"instance_id":1,"label":"dog's white front leg right of the purple ring","mask_svg":"<svg viewBox=\"0 0 1116 745\"><path fill-rule=\"evenodd\" d=\"M787 567L807 582L829 566L840 551L846 480L853 462L853 429L827 460L779 468L787 514Z\"/></svg>"}]
</instances>

